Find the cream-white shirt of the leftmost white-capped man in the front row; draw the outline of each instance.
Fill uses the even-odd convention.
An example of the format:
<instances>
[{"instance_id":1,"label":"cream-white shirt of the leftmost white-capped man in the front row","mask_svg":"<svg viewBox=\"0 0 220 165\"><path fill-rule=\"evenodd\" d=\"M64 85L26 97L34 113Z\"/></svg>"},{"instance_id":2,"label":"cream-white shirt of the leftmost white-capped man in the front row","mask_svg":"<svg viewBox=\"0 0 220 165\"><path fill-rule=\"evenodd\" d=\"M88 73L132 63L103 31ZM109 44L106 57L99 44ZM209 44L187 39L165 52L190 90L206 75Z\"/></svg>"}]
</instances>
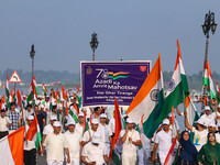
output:
<instances>
[{"instance_id":1,"label":"cream-white shirt of the leftmost white-capped man in the front row","mask_svg":"<svg viewBox=\"0 0 220 165\"><path fill-rule=\"evenodd\" d=\"M68 147L64 134L47 134L43 145L47 147L46 161L64 161L64 148Z\"/></svg>"}]
</instances>

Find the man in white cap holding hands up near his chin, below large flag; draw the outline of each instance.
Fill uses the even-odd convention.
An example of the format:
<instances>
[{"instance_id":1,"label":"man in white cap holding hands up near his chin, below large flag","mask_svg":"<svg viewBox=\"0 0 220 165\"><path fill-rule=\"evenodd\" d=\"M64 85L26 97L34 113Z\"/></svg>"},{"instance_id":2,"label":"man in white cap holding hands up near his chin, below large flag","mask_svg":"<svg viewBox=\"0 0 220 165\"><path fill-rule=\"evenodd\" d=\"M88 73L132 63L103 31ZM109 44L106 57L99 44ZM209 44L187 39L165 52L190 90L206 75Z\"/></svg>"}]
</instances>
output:
<instances>
[{"instance_id":1,"label":"man in white cap holding hands up near his chin, below large flag","mask_svg":"<svg viewBox=\"0 0 220 165\"><path fill-rule=\"evenodd\" d=\"M135 165L136 146L141 145L141 139L138 131L133 129L133 121L127 119L127 130L121 130L120 136L122 145L122 165Z\"/></svg>"}]
</instances>

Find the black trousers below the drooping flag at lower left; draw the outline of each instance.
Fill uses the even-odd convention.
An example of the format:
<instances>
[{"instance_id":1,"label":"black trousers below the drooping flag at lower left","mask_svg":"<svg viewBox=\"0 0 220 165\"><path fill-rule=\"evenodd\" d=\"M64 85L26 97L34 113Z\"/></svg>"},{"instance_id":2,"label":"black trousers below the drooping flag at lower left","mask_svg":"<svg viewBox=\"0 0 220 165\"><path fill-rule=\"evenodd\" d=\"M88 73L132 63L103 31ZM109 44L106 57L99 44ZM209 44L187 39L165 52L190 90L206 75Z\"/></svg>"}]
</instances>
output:
<instances>
[{"instance_id":1,"label":"black trousers below the drooping flag at lower left","mask_svg":"<svg viewBox=\"0 0 220 165\"><path fill-rule=\"evenodd\" d=\"M24 150L24 164L25 165L36 165L36 150Z\"/></svg>"}]
</instances>

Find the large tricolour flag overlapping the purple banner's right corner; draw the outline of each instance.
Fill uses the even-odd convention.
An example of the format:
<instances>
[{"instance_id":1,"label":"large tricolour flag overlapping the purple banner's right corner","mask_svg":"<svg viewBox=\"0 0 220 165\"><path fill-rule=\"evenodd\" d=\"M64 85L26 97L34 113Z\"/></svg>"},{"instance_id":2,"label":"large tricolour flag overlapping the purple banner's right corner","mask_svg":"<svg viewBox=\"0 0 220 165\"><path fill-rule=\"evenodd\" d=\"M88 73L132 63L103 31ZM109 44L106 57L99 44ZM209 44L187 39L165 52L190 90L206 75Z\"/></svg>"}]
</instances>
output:
<instances>
[{"instance_id":1,"label":"large tricolour flag overlapping the purple banner's right corner","mask_svg":"<svg viewBox=\"0 0 220 165\"><path fill-rule=\"evenodd\" d=\"M163 88L164 85L160 54L154 67L127 110L127 114L129 118L133 119L135 123L139 123L143 116L144 134L148 139L153 136L154 132L158 128L156 120L161 114L164 102Z\"/></svg>"}]
</instances>

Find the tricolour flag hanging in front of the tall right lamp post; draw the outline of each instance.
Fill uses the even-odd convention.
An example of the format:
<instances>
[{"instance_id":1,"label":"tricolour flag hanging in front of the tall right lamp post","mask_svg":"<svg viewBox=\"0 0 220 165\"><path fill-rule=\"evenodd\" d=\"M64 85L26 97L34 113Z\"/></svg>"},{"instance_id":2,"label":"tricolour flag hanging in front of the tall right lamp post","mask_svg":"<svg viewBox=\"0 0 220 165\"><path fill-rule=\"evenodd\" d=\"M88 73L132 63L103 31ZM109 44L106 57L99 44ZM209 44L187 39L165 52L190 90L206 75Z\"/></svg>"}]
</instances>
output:
<instances>
[{"instance_id":1,"label":"tricolour flag hanging in front of the tall right lamp post","mask_svg":"<svg viewBox=\"0 0 220 165\"><path fill-rule=\"evenodd\" d=\"M213 80L211 76L211 69L209 67L208 59L207 59L206 69L204 73L204 85L208 87L210 98L216 99L216 90L215 90Z\"/></svg>"}]
</instances>

